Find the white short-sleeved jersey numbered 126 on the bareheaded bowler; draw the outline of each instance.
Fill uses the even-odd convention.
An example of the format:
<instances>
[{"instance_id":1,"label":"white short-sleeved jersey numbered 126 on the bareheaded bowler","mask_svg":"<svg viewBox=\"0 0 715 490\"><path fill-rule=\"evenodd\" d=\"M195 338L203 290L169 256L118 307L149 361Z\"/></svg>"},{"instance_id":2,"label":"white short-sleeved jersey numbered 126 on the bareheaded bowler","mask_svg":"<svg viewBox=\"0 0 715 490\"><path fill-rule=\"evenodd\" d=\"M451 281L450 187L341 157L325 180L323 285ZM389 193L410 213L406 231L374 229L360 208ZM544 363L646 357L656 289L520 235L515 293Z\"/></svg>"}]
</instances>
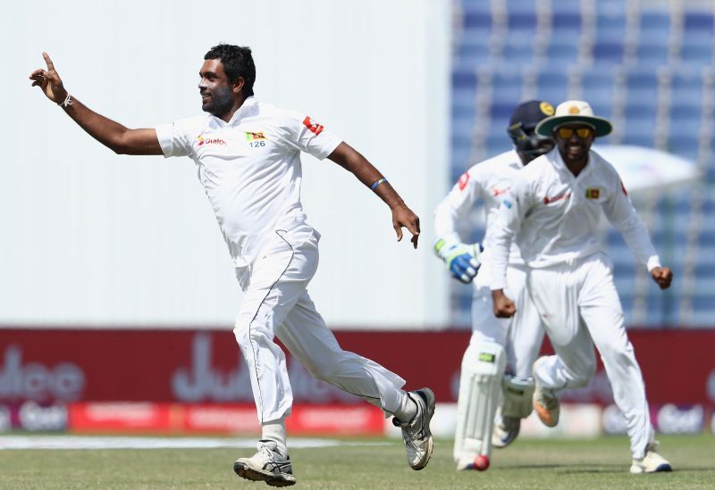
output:
<instances>
[{"instance_id":1,"label":"white short-sleeved jersey numbered 126 on the bareheaded bowler","mask_svg":"<svg viewBox=\"0 0 715 490\"><path fill-rule=\"evenodd\" d=\"M235 267L245 267L276 229L304 223L300 152L324 159L341 138L299 112L248 97L225 122L211 114L156 128L164 157L189 156L214 208Z\"/></svg>"}]
</instances>

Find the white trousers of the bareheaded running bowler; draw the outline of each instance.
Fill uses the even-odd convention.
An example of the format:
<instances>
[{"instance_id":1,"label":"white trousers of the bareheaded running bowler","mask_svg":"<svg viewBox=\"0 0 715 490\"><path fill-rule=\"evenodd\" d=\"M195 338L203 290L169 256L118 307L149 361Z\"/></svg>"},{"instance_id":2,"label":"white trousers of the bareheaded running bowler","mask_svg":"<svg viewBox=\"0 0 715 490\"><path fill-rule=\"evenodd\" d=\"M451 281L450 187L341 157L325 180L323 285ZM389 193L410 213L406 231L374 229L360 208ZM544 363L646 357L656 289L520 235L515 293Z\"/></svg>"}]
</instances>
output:
<instances>
[{"instance_id":1,"label":"white trousers of the bareheaded running bowler","mask_svg":"<svg viewBox=\"0 0 715 490\"><path fill-rule=\"evenodd\" d=\"M393 413L400 407L405 380L355 353L343 351L307 294L318 265L315 230L303 224L276 230L250 266L248 286L233 333L250 373L260 423L290 415L293 395L285 354L317 379L357 394Z\"/></svg>"}]
</instances>

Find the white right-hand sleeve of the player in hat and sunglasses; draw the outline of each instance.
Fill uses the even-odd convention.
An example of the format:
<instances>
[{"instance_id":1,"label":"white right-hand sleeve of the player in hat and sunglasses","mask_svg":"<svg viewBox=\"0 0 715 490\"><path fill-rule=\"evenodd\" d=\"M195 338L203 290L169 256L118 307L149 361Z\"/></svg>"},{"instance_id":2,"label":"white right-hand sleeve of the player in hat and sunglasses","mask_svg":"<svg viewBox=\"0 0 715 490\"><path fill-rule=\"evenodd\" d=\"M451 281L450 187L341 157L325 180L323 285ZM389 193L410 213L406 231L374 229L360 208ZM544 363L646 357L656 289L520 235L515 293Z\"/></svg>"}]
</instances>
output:
<instances>
[{"instance_id":1,"label":"white right-hand sleeve of the player in hat and sunglasses","mask_svg":"<svg viewBox=\"0 0 715 490\"><path fill-rule=\"evenodd\" d=\"M660 258L655 251L643 221L638 217L628 197L626 187L623 186L618 172L613 169L613 183L617 186L616 192L610 195L603 203L603 212L606 218L621 233L626 240L626 245L633 252L638 262L643 263L648 271L660 267Z\"/></svg>"}]
</instances>

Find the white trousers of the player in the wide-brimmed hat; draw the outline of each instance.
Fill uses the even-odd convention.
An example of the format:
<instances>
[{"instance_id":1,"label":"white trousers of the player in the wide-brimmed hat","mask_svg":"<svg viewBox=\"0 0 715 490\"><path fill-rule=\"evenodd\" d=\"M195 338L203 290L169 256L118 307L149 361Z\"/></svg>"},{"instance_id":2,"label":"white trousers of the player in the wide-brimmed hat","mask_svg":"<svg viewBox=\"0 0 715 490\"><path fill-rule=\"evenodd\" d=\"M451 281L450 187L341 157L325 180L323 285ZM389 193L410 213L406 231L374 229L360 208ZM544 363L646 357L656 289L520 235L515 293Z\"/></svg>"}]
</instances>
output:
<instances>
[{"instance_id":1,"label":"white trousers of the player in the wide-brimmed hat","mask_svg":"<svg viewBox=\"0 0 715 490\"><path fill-rule=\"evenodd\" d=\"M534 378L557 390L586 386L596 370L595 344L626 418L633 457L643 458L653 428L612 270L605 253L530 270L528 286L556 352L534 371Z\"/></svg>"}]
</instances>

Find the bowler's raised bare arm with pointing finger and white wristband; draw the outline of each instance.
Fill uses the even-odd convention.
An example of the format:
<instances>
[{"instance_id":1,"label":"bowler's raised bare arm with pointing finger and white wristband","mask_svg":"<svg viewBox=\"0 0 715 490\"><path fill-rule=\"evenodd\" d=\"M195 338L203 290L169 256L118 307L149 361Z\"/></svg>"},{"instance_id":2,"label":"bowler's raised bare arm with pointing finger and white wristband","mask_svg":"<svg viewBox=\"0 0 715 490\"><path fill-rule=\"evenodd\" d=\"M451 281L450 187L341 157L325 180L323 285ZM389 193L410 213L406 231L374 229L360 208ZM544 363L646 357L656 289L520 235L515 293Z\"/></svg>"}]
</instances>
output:
<instances>
[{"instance_id":1,"label":"bowler's raised bare arm with pointing finger and white wristband","mask_svg":"<svg viewBox=\"0 0 715 490\"><path fill-rule=\"evenodd\" d=\"M40 87L48 99L58 104L82 129L117 154L162 154L155 129L128 129L88 109L67 92L49 55L43 53L47 69L29 75L32 87Z\"/></svg>"}]
</instances>

